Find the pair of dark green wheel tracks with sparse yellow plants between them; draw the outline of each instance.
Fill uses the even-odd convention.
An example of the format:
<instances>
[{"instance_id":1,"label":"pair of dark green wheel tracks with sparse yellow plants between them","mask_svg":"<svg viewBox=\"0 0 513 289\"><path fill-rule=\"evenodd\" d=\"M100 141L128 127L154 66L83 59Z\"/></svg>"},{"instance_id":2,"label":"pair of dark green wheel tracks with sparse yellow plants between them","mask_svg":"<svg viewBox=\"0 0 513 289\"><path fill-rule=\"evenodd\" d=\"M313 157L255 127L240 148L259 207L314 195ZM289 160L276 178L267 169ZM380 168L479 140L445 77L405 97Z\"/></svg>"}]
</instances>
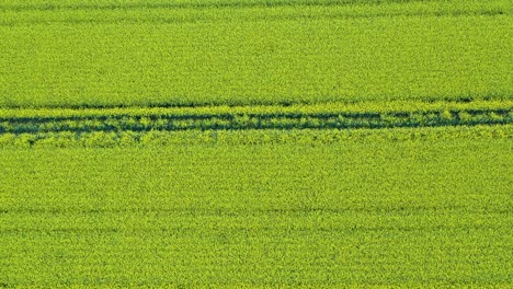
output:
<instances>
[{"instance_id":1,"label":"pair of dark green wheel tracks with sparse yellow plants between them","mask_svg":"<svg viewBox=\"0 0 513 289\"><path fill-rule=\"evenodd\" d=\"M345 129L512 124L508 108L425 112L332 112L247 114L149 114L67 117L0 117L0 134L218 130L218 129Z\"/></svg>"}]
</instances>

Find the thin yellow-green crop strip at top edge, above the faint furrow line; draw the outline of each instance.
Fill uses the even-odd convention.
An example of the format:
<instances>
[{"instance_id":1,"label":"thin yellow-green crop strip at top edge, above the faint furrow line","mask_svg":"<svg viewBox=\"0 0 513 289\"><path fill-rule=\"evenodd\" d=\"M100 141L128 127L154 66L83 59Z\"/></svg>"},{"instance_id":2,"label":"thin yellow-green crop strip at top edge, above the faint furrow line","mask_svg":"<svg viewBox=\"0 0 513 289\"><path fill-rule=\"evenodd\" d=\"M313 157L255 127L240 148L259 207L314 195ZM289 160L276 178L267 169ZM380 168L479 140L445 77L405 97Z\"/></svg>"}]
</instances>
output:
<instances>
[{"instance_id":1,"label":"thin yellow-green crop strip at top edge, above the faint furrow line","mask_svg":"<svg viewBox=\"0 0 513 289\"><path fill-rule=\"evenodd\" d=\"M0 25L15 26L26 24L49 23L198 23L198 22L233 22L233 21L280 21L307 19L372 19L383 16L464 16L464 15L499 15L511 14L512 9L505 1L494 0L485 3L470 1L465 4L455 1L443 1L436 4L430 2L410 2L397 5L381 3L380 5L357 4L337 5L339 1L287 1L280 3L225 3L216 8L197 9L176 2L140 3L140 4L106 4L88 5L1 5ZM296 3L296 4L293 4ZM201 2L198 4L205 4ZM237 5L231 5L237 4ZM262 5L263 4L263 5ZM269 9L270 5L280 7ZM241 9L246 8L246 9ZM49 13L48 11L54 11ZM123 13L122 13L122 12Z\"/></svg>"}]
</instances>

